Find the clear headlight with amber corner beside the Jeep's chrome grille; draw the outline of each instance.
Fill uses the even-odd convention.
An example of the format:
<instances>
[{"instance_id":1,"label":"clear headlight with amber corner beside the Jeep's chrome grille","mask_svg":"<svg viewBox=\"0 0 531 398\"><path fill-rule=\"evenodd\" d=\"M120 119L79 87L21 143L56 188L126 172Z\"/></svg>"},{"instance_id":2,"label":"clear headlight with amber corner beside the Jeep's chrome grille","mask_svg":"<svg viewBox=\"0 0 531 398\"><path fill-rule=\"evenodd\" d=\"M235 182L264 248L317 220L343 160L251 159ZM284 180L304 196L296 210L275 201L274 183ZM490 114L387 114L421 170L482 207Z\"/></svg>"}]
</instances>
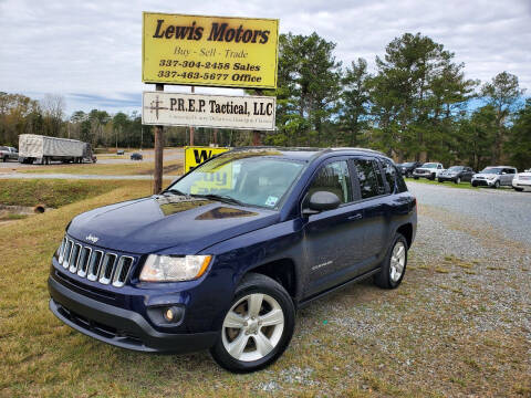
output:
<instances>
[{"instance_id":1,"label":"clear headlight with amber corner beside the Jeep's chrome grille","mask_svg":"<svg viewBox=\"0 0 531 398\"><path fill-rule=\"evenodd\" d=\"M191 281L205 273L211 259L211 255L170 256L149 254L142 269L140 281Z\"/></svg>"}]
</instances>

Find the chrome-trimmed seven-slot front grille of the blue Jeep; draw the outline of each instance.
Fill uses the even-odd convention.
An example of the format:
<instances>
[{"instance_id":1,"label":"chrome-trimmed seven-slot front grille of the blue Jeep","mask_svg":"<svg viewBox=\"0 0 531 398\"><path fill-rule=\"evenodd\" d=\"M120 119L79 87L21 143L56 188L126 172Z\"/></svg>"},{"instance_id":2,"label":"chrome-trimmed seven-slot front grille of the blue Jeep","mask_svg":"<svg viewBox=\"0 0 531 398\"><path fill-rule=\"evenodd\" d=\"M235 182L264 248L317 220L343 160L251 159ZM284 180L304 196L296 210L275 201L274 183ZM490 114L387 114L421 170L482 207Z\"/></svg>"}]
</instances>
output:
<instances>
[{"instance_id":1,"label":"chrome-trimmed seven-slot front grille of the blue Jeep","mask_svg":"<svg viewBox=\"0 0 531 398\"><path fill-rule=\"evenodd\" d=\"M64 237L59 263L73 274L101 284L122 287L133 268L134 258L82 245Z\"/></svg>"}]
</instances>

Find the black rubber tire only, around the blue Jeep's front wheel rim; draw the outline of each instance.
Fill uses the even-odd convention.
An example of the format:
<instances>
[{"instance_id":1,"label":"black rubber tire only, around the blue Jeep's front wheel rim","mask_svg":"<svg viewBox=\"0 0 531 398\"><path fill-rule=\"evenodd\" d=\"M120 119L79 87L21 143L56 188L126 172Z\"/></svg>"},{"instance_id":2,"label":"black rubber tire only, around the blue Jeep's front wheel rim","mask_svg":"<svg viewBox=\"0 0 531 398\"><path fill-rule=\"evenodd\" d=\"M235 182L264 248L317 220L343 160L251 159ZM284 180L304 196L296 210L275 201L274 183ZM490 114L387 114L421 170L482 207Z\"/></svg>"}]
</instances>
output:
<instances>
[{"instance_id":1,"label":"black rubber tire only, around the blue Jeep's front wheel rim","mask_svg":"<svg viewBox=\"0 0 531 398\"><path fill-rule=\"evenodd\" d=\"M285 350L290 344L291 337L293 336L293 329L295 327L295 307L293 305L293 301L285 289L269 276L256 273L249 273L246 275L236 289L231 307L241 298L256 293L267 294L274 298L280 305L284 322L282 334L277 345L269 354L258 360L244 362L235 358L228 353L222 341L225 328L221 327L216 345L210 348L210 354L218 365L232 373L251 373L263 369L264 367L273 364ZM242 329L240 329L239 333L243 333Z\"/></svg>"}]
</instances>

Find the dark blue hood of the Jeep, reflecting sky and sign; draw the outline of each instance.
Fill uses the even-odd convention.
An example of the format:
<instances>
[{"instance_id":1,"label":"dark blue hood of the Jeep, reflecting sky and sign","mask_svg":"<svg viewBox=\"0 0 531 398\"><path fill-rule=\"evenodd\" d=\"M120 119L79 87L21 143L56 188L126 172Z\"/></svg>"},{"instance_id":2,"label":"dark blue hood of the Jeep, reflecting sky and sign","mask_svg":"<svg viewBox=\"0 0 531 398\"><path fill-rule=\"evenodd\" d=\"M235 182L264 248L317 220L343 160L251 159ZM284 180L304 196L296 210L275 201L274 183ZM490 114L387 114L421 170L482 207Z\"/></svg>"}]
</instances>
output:
<instances>
[{"instance_id":1,"label":"dark blue hood of the Jeep, reflecting sky and sign","mask_svg":"<svg viewBox=\"0 0 531 398\"><path fill-rule=\"evenodd\" d=\"M67 233L88 244L129 253L171 249L173 254L195 254L278 219L272 210L162 195L82 213L72 220Z\"/></svg>"}]
</instances>

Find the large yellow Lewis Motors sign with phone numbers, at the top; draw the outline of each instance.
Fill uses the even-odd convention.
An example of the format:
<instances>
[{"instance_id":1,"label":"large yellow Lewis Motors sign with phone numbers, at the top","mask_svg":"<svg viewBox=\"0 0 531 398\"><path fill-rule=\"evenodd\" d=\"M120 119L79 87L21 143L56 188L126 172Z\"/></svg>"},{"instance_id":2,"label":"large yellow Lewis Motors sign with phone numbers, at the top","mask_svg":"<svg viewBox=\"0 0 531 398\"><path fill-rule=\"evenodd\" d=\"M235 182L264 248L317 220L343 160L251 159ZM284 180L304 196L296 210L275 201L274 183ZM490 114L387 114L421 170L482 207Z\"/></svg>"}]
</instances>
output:
<instances>
[{"instance_id":1,"label":"large yellow Lewis Motors sign with phone numbers, at the top","mask_svg":"<svg viewBox=\"0 0 531 398\"><path fill-rule=\"evenodd\" d=\"M277 87L279 20L144 12L142 81Z\"/></svg>"}]
</instances>

